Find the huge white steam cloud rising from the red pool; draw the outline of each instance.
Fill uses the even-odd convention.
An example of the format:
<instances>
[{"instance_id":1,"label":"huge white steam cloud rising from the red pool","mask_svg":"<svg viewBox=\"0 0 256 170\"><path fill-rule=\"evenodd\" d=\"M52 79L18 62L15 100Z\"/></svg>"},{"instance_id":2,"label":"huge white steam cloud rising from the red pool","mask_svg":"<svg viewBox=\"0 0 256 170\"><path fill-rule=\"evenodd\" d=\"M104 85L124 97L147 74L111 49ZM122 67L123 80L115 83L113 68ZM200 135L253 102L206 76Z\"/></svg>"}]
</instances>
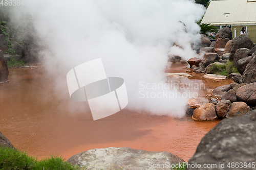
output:
<instances>
[{"instance_id":1,"label":"huge white steam cloud rising from the red pool","mask_svg":"<svg viewBox=\"0 0 256 170\"><path fill-rule=\"evenodd\" d=\"M141 90L147 83L165 83L168 55L195 57L190 42L200 41L196 21L204 14L203 6L189 0L45 0L28 1L26 11L47 45L44 62L49 71L58 63L68 67L66 75L76 65L101 58L108 77L124 79L127 109L184 115L187 99L141 99ZM184 49L172 47L174 41ZM63 75L58 79L66 81Z\"/></svg>"}]
</instances>

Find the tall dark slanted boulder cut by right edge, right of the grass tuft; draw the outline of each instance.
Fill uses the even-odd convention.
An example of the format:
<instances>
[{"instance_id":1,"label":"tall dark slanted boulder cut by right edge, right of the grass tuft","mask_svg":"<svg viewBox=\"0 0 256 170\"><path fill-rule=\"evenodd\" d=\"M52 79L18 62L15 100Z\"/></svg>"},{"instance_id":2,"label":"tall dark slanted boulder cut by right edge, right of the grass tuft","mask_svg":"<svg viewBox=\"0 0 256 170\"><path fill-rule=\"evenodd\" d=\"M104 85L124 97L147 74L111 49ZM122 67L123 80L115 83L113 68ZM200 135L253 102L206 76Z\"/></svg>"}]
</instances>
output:
<instances>
[{"instance_id":1,"label":"tall dark slanted boulder cut by right edge, right of the grass tuft","mask_svg":"<svg viewBox=\"0 0 256 170\"><path fill-rule=\"evenodd\" d=\"M256 82L256 53L253 53L251 60L245 67L240 83Z\"/></svg>"}]
</instances>

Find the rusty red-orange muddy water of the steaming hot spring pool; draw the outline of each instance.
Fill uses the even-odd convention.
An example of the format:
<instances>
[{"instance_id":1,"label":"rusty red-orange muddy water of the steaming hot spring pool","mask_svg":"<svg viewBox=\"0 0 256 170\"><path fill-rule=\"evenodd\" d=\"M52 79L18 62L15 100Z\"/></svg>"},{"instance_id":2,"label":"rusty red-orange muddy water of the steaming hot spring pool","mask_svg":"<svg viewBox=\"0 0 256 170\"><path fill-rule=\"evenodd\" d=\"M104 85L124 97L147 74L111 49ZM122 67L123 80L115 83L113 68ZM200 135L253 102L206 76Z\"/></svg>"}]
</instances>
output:
<instances>
[{"instance_id":1,"label":"rusty red-orange muddy water of the steaming hot spring pool","mask_svg":"<svg viewBox=\"0 0 256 170\"><path fill-rule=\"evenodd\" d=\"M185 72L187 65L174 64L166 72ZM94 121L86 102L58 97L51 78L42 67L11 69L10 83L0 85L0 131L19 150L29 155L63 155L68 159L94 148L130 147L166 151L188 161L201 138L220 120L195 122L191 117L173 118L124 109L118 114ZM207 89L225 82L203 80ZM72 108L70 108L72 106Z\"/></svg>"}]
</instances>

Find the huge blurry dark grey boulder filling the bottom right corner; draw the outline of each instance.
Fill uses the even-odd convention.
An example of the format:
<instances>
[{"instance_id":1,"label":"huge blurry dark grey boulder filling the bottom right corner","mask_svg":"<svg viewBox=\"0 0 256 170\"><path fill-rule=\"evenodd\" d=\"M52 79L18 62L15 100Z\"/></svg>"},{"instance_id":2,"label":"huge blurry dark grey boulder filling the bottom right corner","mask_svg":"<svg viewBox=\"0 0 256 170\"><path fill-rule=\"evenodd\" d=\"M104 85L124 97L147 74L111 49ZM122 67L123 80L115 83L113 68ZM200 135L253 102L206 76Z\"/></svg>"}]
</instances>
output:
<instances>
[{"instance_id":1,"label":"huge blurry dark grey boulder filling the bottom right corner","mask_svg":"<svg viewBox=\"0 0 256 170\"><path fill-rule=\"evenodd\" d=\"M245 162L247 165L255 162L256 155L256 111L251 111L232 119L224 119L212 128L201 140L195 155L188 161L188 164L216 164L212 168L191 168L195 169L240 169L231 168L230 162ZM224 163L224 167L220 164ZM230 167L228 167L230 163ZM241 169L255 169L243 167Z\"/></svg>"}]
</instances>

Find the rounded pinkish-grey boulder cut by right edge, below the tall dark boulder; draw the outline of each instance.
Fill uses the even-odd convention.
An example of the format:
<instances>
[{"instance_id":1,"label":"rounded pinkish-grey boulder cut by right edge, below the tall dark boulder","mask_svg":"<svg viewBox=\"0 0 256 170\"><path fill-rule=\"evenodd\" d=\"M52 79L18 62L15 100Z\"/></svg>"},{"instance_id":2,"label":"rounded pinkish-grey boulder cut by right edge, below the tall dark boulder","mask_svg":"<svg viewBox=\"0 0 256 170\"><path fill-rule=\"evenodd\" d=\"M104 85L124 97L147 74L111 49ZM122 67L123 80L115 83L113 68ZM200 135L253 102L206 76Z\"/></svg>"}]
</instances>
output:
<instances>
[{"instance_id":1,"label":"rounded pinkish-grey boulder cut by right edge, below the tall dark boulder","mask_svg":"<svg viewBox=\"0 0 256 170\"><path fill-rule=\"evenodd\" d=\"M237 89L238 101L256 105L256 83L246 84Z\"/></svg>"}]
</instances>

